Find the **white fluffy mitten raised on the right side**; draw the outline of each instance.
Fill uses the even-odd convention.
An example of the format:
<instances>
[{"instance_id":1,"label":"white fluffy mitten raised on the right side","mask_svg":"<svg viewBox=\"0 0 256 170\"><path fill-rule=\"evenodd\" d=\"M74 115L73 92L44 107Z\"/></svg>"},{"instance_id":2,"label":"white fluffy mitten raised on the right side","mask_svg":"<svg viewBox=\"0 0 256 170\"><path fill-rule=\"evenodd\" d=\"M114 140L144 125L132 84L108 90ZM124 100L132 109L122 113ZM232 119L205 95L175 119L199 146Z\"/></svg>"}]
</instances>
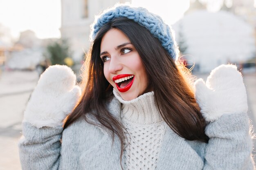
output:
<instances>
[{"instance_id":1,"label":"white fluffy mitten raised on the right side","mask_svg":"<svg viewBox=\"0 0 256 170\"><path fill-rule=\"evenodd\" d=\"M207 121L223 114L247 113L247 95L243 77L234 65L221 65L211 71L206 83L195 82L195 98Z\"/></svg>"}]
</instances>

